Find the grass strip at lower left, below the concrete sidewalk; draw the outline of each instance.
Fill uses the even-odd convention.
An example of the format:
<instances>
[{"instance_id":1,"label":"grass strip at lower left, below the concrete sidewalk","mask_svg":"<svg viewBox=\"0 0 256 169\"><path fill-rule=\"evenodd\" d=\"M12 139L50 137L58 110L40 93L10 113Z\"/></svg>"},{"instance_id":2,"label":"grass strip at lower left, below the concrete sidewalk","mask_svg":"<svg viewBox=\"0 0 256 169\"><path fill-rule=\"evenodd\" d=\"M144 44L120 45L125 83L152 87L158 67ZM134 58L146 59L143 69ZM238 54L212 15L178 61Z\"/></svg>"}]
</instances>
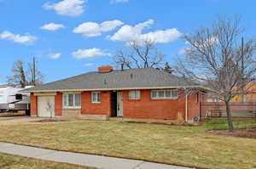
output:
<instances>
[{"instance_id":1,"label":"grass strip at lower left, below the concrete sidewalk","mask_svg":"<svg viewBox=\"0 0 256 169\"><path fill-rule=\"evenodd\" d=\"M74 166L58 162L39 161L17 155L0 153L1 169L92 169L84 166Z\"/></svg>"}]
</instances>

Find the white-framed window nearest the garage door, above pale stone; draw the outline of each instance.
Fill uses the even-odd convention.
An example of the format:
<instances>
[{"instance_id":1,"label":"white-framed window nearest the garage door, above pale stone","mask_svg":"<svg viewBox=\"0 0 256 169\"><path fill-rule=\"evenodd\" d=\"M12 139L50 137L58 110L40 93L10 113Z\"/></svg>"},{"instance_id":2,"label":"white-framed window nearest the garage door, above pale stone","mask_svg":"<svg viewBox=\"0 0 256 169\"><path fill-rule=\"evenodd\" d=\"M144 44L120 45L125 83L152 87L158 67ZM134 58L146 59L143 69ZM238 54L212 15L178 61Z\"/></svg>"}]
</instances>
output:
<instances>
[{"instance_id":1,"label":"white-framed window nearest the garage door, above pale stone","mask_svg":"<svg viewBox=\"0 0 256 169\"><path fill-rule=\"evenodd\" d=\"M63 93L63 107L79 109L81 107L81 93Z\"/></svg>"}]
</instances>

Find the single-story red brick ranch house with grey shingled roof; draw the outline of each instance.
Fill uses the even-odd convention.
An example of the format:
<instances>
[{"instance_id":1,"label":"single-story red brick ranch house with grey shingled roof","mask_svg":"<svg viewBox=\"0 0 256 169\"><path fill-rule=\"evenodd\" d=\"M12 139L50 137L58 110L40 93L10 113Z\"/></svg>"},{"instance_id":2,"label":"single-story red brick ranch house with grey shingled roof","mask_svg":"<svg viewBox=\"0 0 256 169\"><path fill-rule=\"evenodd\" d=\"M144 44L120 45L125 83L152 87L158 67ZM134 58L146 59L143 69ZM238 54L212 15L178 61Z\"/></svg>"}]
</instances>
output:
<instances>
[{"instance_id":1,"label":"single-story red brick ranch house with grey shingled roof","mask_svg":"<svg viewBox=\"0 0 256 169\"><path fill-rule=\"evenodd\" d=\"M183 119L193 121L195 116L200 116L204 94L186 97L180 90L186 87L208 91L164 70L113 70L107 65L95 72L49 82L25 92L31 93L32 116L177 120L180 114Z\"/></svg>"}]
</instances>

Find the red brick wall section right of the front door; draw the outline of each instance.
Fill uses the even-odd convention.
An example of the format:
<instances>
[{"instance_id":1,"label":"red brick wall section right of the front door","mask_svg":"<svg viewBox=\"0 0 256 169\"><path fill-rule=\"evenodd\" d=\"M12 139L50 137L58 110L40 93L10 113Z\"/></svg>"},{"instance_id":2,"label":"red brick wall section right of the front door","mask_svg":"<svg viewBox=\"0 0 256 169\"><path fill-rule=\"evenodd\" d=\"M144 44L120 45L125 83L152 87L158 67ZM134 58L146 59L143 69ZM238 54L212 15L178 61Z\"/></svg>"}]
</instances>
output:
<instances>
[{"instance_id":1,"label":"red brick wall section right of the front door","mask_svg":"<svg viewBox=\"0 0 256 169\"><path fill-rule=\"evenodd\" d=\"M177 120L178 112L185 118L185 97L182 93L178 99L151 99L150 90L141 90L140 100L128 99L128 93L124 91L123 94L125 118ZM188 120L193 120L200 112L200 97L196 102L195 95L191 95L188 101Z\"/></svg>"}]
</instances>

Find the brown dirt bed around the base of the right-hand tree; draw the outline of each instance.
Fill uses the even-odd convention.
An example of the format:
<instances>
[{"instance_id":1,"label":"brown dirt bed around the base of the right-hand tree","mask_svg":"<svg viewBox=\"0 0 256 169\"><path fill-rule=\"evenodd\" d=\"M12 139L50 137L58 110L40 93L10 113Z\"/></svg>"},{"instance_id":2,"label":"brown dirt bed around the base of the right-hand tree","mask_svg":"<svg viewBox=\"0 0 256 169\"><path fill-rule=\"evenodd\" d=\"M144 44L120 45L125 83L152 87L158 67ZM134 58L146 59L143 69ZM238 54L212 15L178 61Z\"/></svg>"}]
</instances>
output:
<instances>
[{"instance_id":1,"label":"brown dirt bed around the base of the right-hand tree","mask_svg":"<svg viewBox=\"0 0 256 169\"><path fill-rule=\"evenodd\" d=\"M207 131L212 134L220 134L226 136L234 136L241 138L255 138L256 139L256 128L251 129L235 129L232 132L229 130L209 130Z\"/></svg>"}]
</instances>

